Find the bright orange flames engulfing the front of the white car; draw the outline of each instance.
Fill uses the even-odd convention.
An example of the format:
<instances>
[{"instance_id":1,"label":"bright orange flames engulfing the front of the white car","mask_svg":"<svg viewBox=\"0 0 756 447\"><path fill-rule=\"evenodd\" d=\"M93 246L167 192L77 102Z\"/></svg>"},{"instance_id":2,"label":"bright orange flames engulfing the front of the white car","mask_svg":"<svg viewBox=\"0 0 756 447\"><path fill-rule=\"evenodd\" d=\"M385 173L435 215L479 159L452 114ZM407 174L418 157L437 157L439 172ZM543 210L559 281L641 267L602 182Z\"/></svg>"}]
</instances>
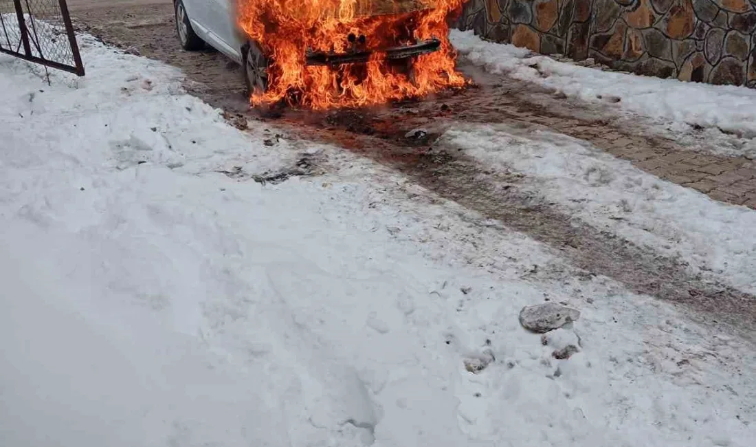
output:
<instances>
[{"instance_id":1,"label":"bright orange flames engulfing the front of the white car","mask_svg":"<svg viewBox=\"0 0 756 447\"><path fill-rule=\"evenodd\" d=\"M303 107L361 107L417 98L460 87L447 18L465 0L238 0L237 20L270 57L268 91L253 105L287 101ZM348 36L364 35L373 51L363 64L313 66L308 49L343 54ZM417 56L411 75L386 59L382 49L438 39L440 48Z\"/></svg>"}]
</instances>

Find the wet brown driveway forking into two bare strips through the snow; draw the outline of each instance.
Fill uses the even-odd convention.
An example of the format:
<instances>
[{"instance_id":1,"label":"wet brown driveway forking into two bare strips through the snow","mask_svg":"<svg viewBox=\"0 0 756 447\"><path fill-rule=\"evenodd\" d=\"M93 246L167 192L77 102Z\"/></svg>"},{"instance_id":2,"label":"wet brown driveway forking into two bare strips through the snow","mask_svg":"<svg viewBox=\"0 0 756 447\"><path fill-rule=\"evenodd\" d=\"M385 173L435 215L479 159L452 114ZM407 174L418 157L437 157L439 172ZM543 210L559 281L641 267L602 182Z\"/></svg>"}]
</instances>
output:
<instances>
[{"instance_id":1,"label":"wet brown driveway forking into two bare strips through the snow","mask_svg":"<svg viewBox=\"0 0 756 447\"><path fill-rule=\"evenodd\" d=\"M69 5L79 25L104 41L180 67L187 75L187 90L209 104L230 113L253 113L247 107L238 67L215 51L180 50L171 0L69 0ZM705 311L698 314L700 319L729 323L744 334L754 334L756 297L703 281L677 259L596 231L543 201L534 202L517 188L516 176L489 172L475 160L438 151L427 141L408 142L403 136L429 124L441 132L459 121L540 126L589 141L659 178L754 209L756 163L705 151L692 153L638 120L569 101L525 82L486 75L465 61L460 61L460 68L476 79L477 88L380 110L290 110L282 116L257 118L274 122L290 135L338 144L392 166L435 194L550 245L587 275L614 278L639 293ZM707 144L696 135L688 142L699 147ZM737 182L722 180L736 171L740 173Z\"/></svg>"}]
</instances>

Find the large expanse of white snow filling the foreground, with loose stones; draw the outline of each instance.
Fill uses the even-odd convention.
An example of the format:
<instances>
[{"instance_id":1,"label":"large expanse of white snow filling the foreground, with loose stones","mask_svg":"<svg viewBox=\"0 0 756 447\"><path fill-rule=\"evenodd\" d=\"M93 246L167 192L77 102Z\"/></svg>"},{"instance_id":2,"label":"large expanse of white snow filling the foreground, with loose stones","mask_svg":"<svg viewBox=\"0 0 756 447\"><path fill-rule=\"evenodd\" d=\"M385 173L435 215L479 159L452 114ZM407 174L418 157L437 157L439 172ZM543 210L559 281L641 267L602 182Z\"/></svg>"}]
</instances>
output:
<instances>
[{"instance_id":1,"label":"large expanse of white snow filling the foreground, with loose stones","mask_svg":"<svg viewBox=\"0 0 756 447\"><path fill-rule=\"evenodd\" d=\"M51 86L0 56L3 445L752 444L750 344L81 39Z\"/></svg>"}]
</instances>

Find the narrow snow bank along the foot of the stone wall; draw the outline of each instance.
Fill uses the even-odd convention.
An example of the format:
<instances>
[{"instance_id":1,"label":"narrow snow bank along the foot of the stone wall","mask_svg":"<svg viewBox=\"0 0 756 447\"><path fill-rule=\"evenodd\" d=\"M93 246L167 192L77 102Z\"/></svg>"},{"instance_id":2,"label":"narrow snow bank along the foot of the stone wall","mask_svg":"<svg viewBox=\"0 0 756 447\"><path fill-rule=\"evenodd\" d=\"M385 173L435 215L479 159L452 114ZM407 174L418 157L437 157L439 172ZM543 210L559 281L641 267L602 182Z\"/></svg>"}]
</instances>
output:
<instances>
[{"instance_id":1,"label":"narrow snow bank along the foot of the stone wall","mask_svg":"<svg viewBox=\"0 0 756 447\"><path fill-rule=\"evenodd\" d=\"M714 127L756 138L756 89L708 85L596 70L534 55L525 48L485 42L472 31L451 31L451 42L473 64L665 123ZM682 126L680 126L682 125Z\"/></svg>"}]
</instances>

